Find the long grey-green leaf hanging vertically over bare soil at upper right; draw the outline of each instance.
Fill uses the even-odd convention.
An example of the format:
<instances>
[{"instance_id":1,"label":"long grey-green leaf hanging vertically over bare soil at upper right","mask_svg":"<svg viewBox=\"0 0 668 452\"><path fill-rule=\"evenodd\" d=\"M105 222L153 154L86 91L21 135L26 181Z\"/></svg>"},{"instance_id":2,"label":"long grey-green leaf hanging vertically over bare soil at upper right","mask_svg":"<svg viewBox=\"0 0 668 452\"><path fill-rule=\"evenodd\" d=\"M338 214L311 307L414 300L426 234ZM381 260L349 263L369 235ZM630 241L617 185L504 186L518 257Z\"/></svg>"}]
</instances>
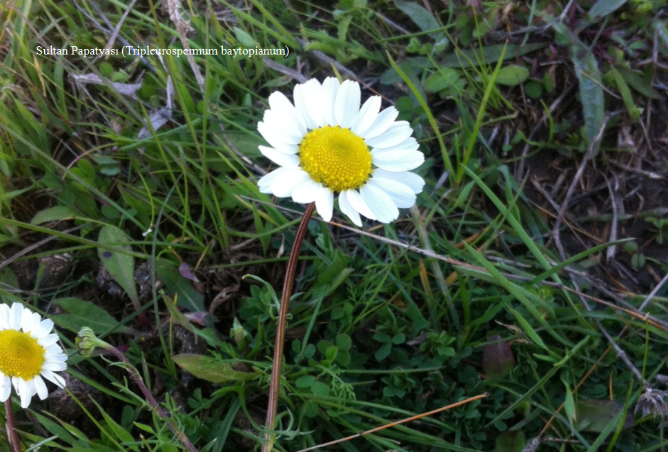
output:
<instances>
[{"instance_id":1,"label":"long grey-green leaf hanging vertically over bare soil at upper right","mask_svg":"<svg viewBox=\"0 0 668 452\"><path fill-rule=\"evenodd\" d=\"M604 105L603 86L596 57L585 44L580 41L570 46L571 59L580 81L580 101L585 115L585 138L587 144L595 143L598 132L603 126ZM593 155L598 153L600 142L596 142Z\"/></svg>"}]
</instances>

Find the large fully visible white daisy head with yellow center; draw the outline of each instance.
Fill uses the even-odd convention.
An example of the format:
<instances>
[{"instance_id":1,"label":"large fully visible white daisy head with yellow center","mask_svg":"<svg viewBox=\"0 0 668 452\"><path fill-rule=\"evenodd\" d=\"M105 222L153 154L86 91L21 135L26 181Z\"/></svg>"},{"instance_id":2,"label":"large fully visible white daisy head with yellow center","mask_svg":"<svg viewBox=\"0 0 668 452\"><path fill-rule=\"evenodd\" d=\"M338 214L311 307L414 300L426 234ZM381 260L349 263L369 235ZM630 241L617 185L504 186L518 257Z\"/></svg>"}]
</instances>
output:
<instances>
[{"instance_id":1,"label":"large fully visible white daisy head with yellow center","mask_svg":"<svg viewBox=\"0 0 668 452\"><path fill-rule=\"evenodd\" d=\"M380 111L380 97L360 108L360 84L333 77L295 86L293 105L281 92L269 96L269 110L257 130L271 144L260 152L281 166L262 179L262 193L315 202L331 220L334 194L357 226L360 214L382 223L415 204L424 180L410 173L424 161L407 121L395 121L394 107Z\"/></svg>"}]
</instances>

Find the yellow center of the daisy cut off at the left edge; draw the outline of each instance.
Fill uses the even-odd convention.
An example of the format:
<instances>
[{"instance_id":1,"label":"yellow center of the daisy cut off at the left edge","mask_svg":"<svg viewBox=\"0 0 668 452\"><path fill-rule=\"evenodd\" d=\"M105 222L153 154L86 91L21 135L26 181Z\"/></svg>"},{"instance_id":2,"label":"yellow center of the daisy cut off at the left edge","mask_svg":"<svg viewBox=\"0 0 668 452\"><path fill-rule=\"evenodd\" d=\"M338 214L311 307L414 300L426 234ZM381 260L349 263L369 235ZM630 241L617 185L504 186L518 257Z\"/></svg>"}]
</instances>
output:
<instances>
[{"instance_id":1,"label":"yellow center of the daisy cut off at the left edge","mask_svg":"<svg viewBox=\"0 0 668 452\"><path fill-rule=\"evenodd\" d=\"M32 380L44 364L44 347L28 333L0 331L0 371L8 377Z\"/></svg>"}]
</instances>

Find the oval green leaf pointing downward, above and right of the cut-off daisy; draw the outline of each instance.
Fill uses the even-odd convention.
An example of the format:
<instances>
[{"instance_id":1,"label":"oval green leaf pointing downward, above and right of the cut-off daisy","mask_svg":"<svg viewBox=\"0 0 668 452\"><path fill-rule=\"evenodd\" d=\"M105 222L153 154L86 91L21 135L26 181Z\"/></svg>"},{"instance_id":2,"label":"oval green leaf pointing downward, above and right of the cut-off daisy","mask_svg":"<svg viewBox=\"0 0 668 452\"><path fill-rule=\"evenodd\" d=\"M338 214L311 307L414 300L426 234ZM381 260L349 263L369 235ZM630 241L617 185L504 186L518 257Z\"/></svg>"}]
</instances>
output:
<instances>
[{"instance_id":1,"label":"oval green leaf pointing downward, above and right of the cut-off daisy","mask_svg":"<svg viewBox=\"0 0 668 452\"><path fill-rule=\"evenodd\" d=\"M135 287L135 258L128 253L132 251L130 245L119 245L130 242L130 238L121 229L107 224L100 229L97 242L112 246L115 251L98 248L97 256L107 271L128 294L135 308L139 308L139 296Z\"/></svg>"}]
</instances>

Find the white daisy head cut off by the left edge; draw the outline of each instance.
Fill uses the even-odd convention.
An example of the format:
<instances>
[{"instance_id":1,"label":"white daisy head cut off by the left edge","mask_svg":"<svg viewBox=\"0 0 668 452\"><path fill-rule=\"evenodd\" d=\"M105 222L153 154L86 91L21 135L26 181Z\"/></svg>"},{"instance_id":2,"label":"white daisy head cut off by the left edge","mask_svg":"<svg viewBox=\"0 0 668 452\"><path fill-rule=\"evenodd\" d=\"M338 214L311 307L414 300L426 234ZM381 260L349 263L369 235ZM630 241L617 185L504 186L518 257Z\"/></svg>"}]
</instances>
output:
<instances>
[{"instance_id":1,"label":"white daisy head cut off by the left edge","mask_svg":"<svg viewBox=\"0 0 668 452\"><path fill-rule=\"evenodd\" d=\"M41 400L49 395L42 377L63 388L65 380L55 372L67 369L67 355L51 333L53 322L41 320L19 303L0 304L0 402L12 392L12 384L21 398L21 408L28 408L32 396Z\"/></svg>"}]
</instances>

